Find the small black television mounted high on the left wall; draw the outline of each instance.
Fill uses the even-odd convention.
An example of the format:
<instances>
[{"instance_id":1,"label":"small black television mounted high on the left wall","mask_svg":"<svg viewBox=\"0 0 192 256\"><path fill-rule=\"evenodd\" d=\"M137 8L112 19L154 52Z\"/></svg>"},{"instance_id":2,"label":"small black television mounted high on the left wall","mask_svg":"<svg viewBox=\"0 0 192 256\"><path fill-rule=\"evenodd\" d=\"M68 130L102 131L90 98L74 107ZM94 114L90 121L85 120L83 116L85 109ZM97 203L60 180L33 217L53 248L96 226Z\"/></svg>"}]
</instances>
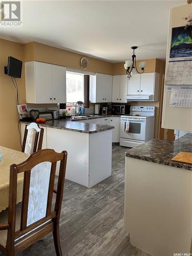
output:
<instances>
[{"instance_id":1,"label":"small black television mounted high on the left wall","mask_svg":"<svg viewBox=\"0 0 192 256\"><path fill-rule=\"evenodd\" d=\"M22 61L11 56L8 57L8 76L20 78L22 76Z\"/></svg>"}]
</instances>

